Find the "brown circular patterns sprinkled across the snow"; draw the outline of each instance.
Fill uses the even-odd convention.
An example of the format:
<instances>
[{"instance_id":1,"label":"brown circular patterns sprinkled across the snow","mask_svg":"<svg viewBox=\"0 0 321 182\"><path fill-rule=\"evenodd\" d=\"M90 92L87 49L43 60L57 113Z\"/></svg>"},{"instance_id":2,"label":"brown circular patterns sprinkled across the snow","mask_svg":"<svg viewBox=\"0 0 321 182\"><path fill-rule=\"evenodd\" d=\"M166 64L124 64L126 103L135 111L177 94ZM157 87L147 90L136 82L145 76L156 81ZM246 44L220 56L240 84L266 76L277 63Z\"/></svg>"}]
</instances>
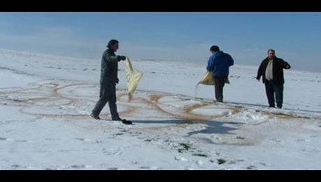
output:
<instances>
[{"instance_id":1,"label":"brown circular patterns sprinkled across the snow","mask_svg":"<svg viewBox=\"0 0 321 182\"><path fill-rule=\"evenodd\" d=\"M40 81L31 84L30 88L3 89L0 96L0 104L21 106L20 111L28 115L89 118L98 100L99 85L76 81ZM294 117L269 110L251 110L232 104L151 90L136 90L131 101L127 90L117 90L117 107L121 117L167 125L191 124L227 116L252 123L267 121L269 117ZM103 119L110 119L108 105L103 108L101 116ZM168 119L171 122L168 122Z\"/></svg>"}]
</instances>

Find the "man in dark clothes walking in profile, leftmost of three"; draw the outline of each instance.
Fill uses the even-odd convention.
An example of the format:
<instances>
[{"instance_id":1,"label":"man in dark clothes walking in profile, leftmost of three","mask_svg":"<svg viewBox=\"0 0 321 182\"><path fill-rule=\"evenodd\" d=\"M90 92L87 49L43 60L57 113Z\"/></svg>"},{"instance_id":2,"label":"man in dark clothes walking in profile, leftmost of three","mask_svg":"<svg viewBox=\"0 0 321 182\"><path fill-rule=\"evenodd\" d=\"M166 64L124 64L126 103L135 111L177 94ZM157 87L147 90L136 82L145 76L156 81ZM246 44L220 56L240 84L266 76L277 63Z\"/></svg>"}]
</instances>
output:
<instances>
[{"instance_id":1,"label":"man in dark clothes walking in profile, leftmost of three","mask_svg":"<svg viewBox=\"0 0 321 182\"><path fill-rule=\"evenodd\" d=\"M126 60L126 56L115 55L114 52L119 48L119 42L117 40L110 40L107 47L108 49L103 52L103 57L101 58L99 100L97 101L95 108L91 111L90 116L94 119L100 119L99 114L108 102L112 120L121 121L124 124L132 124L132 122L119 117L116 105L116 84L119 82L118 62Z\"/></svg>"}]
</instances>

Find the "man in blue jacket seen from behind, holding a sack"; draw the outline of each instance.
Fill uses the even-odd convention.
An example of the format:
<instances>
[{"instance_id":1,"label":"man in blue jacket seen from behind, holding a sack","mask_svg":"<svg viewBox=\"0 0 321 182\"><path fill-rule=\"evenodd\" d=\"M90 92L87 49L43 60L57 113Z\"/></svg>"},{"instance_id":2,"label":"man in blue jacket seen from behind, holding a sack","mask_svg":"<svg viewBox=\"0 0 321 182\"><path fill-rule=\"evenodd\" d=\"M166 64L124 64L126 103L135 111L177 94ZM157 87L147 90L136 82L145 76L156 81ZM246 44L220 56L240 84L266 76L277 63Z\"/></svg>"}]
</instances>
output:
<instances>
[{"instance_id":1,"label":"man in blue jacket seen from behind, holding a sack","mask_svg":"<svg viewBox=\"0 0 321 182\"><path fill-rule=\"evenodd\" d=\"M216 45L212 46L210 51L212 56L207 62L207 71L213 72L216 101L223 102L223 87L228 78L229 67L234 65L234 60L228 53L220 51Z\"/></svg>"}]
</instances>

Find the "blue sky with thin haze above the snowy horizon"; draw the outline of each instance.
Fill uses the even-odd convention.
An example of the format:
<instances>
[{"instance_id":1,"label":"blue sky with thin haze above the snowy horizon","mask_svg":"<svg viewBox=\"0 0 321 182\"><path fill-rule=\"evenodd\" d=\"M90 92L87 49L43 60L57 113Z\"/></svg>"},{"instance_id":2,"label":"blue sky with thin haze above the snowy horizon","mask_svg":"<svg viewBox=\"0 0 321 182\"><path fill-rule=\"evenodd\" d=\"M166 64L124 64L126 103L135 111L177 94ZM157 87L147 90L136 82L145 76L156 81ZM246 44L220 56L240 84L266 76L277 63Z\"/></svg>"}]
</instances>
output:
<instances>
[{"instance_id":1,"label":"blue sky with thin haze above the snowy horizon","mask_svg":"<svg viewBox=\"0 0 321 182\"><path fill-rule=\"evenodd\" d=\"M0 49L100 60L110 39L132 59L206 64L218 45L238 65L276 50L293 69L321 72L321 13L0 13Z\"/></svg>"}]
</instances>

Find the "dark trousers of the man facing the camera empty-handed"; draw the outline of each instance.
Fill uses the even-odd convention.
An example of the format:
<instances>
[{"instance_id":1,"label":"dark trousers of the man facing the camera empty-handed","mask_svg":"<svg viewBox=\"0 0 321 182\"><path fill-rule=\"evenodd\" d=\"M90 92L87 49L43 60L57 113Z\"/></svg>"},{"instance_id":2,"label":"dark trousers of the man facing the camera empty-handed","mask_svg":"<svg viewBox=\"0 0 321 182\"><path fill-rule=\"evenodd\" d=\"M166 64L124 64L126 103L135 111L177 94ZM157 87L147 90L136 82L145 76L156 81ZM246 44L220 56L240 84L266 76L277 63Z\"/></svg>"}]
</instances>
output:
<instances>
[{"instance_id":1,"label":"dark trousers of the man facing the camera empty-handed","mask_svg":"<svg viewBox=\"0 0 321 182\"><path fill-rule=\"evenodd\" d=\"M283 83L276 84L272 81L265 81L265 92L267 93L267 100L269 101L269 107L275 107L282 108L283 104ZM275 100L274 100L274 94L275 94Z\"/></svg>"}]
</instances>

